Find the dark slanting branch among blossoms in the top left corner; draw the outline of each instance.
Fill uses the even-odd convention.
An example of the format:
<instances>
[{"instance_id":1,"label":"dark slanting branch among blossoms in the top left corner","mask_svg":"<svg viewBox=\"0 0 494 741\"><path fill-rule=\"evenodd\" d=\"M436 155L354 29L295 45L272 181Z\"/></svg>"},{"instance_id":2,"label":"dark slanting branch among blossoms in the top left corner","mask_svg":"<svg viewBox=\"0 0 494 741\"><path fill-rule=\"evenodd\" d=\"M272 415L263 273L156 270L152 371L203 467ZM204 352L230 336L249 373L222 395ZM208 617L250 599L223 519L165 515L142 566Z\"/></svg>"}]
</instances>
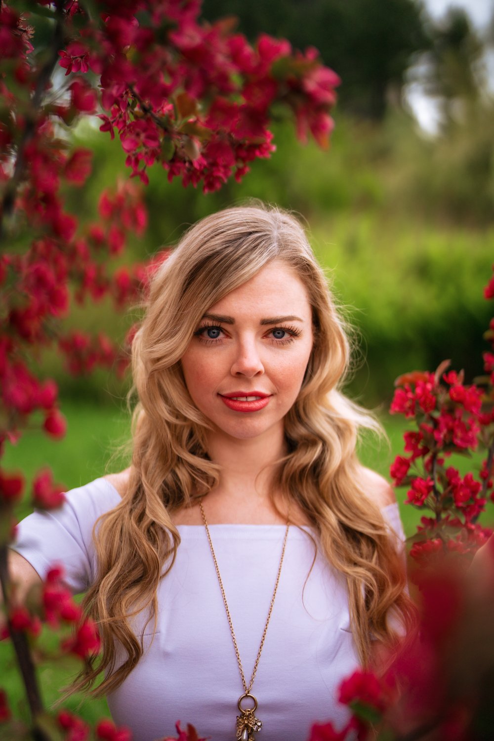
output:
<instances>
[{"instance_id":1,"label":"dark slanting branch among blossoms in the top left corner","mask_svg":"<svg viewBox=\"0 0 494 741\"><path fill-rule=\"evenodd\" d=\"M14 165L14 171L10 182L4 192L4 197L1 199L0 204L0 242L3 236L3 224L4 217L10 216L13 212L13 207L16 202L17 189L24 175L25 162L25 148L30 140L33 138L36 132L36 122L38 119L38 109L41 105L41 100L44 96L44 91L50 77L52 76L53 70L55 69L56 62L59 59L59 50L64 45L64 13L61 7L61 3L56 3L56 26L53 32L53 40L51 44L50 57L45 62L44 66L41 67L38 79L36 80L36 88L34 90L33 99L31 100L31 110L27 113L26 123L24 131L22 132L21 141L17 149L16 165Z\"/></svg>"}]
</instances>

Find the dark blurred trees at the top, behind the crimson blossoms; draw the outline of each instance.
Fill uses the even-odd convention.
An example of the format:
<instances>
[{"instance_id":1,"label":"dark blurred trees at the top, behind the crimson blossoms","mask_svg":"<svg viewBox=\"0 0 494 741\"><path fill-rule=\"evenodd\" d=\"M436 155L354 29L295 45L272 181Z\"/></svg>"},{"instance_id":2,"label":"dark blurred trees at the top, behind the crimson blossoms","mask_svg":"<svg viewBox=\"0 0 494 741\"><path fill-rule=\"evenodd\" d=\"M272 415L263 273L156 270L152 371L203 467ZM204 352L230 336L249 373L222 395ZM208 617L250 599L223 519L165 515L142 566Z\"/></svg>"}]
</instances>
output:
<instances>
[{"instance_id":1,"label":"dark blurred trees at the top, behind the crimson blossoms","mask_svg":"<svg viewBox=\"0 0 494 741\"><path fill-rule=\"evenodd\" d=\"M203 13L237 16L249 39L262 30L300 50L317 47L343 80L339 104L362 118L384 118L413 56L430 47L421 0L204 0Z\"/></svg>"}]
</instances>

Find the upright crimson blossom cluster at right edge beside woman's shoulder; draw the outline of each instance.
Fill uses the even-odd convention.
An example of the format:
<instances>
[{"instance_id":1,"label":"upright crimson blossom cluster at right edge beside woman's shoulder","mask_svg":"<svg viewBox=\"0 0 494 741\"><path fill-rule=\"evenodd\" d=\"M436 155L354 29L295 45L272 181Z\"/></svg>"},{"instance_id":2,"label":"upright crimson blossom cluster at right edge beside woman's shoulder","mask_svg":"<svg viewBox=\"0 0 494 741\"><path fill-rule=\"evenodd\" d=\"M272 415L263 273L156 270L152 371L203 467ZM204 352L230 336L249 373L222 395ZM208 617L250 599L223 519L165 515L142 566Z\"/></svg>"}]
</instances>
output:
<instances>
[{"instance_id":1,"label":"upright crimson blossom cluster at right edge beside woman's shoulder","mask_svg":"<svg viewBox=\"0 0 494 741\"><path fill-rule=\"evenodd\" d=\"M491 296L491 279L485 290ZM485 336L493 344L494 319ZM404 433L405 455L396 456L390 475L396 486L407 486L407 504L430 508L433 518L422 518L411 555L421 565L444 548L471 553L483 545L490 531L478 524L487 498L494 501L494 352L484 353L488 374L465 385L464 374L448 371L442 363L435 373L414 371L396 381L391 413L414 419L417 429ZM487 449L478 478L461 476L446 459L464 455L481 445Z\"/></svg>"}]
</instances>

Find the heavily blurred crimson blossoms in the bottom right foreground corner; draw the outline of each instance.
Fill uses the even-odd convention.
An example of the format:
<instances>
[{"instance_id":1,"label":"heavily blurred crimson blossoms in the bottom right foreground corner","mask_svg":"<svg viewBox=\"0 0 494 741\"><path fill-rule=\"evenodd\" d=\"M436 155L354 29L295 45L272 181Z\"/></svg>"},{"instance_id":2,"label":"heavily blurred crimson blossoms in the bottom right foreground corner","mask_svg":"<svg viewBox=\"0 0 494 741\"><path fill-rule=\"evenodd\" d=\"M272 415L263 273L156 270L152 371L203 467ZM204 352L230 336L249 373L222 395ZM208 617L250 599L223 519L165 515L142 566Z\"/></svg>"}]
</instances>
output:
<instances>
[{"instance_id":1,"label":"heavily blurred crimson blossoms in the bottom right foreground corner","mask_svg":"<svg viewBox=\"0 0 494 741\"><path fill-rule=\"evenodd\" d=\"M416 631L341 682L352 717L314 724L308 741L472 741L492 727L494 539L481 569L464 568L439 538L421 545L422 566L436 560L421 568Z\"/></svg>"}]
</instances>

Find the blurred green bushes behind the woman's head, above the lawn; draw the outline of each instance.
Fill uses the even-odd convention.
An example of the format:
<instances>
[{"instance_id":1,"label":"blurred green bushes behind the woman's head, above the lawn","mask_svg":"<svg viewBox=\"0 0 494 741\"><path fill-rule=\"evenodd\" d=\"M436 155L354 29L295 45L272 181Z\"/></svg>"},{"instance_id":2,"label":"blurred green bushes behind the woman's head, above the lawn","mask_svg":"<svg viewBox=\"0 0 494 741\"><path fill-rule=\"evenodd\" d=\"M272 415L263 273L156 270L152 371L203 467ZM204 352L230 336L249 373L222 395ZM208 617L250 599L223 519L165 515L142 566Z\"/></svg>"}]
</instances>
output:
<instances>
[{"instance_id":1,"label":"blurred green bushes behind the woman's head, above the lawn","mask_svg":"<svg viewBox=\"0 0 494 741\"><path fill-rule=\"evenodd\" d=\"M312 142L302 146L293 127L278 122L273 157L253 163L244 182L229 182L218 193L204 196L170 184L159 166L150 170L150 225L123 262L175 244L188 225L218 208L250 198L276 203L307 223L355 328L353 396L369 405L386 403L398 374L433 369L444 358L473 379L481 371L482 333L492 314L482 290L493 259L494 182L482 152L494 129L482 127L476 136L461 127L434 141L403 110L390 110L379 124L338 110L335 118L326 152ZM119 142L97 127L79 127L75 139L93 149L93 175L67 199L83 221L96 219L101 187L128 176L124 157ZM121 338L130 318L103 304L76 310L70 321ZM64 393L107 397L101 373L74 380L59 371L56 356L45 362ZM121 394L122 387L112 382L111 393Z\"/></svg>"}]
</instances>

